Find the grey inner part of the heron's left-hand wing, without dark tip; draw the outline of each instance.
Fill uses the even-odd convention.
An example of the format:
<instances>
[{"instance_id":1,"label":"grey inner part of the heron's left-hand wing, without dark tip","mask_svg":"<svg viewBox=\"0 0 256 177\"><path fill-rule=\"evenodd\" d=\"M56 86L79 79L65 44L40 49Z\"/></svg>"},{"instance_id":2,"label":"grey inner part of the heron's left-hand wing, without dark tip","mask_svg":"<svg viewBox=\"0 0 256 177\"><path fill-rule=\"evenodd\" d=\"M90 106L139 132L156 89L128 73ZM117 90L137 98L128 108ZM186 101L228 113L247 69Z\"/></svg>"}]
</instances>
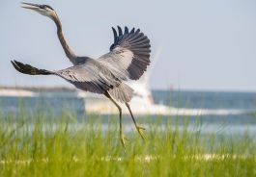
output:
<instances>
[{"instance_id":1,"label":"grey inner part of the heron's left-hand wing, without dark tip","mask_svg":"<svg viewBox=\"0 0 256 177\"><path fill-rule=\"evenodd\" d=\"M64 78L77 89L83 89L95 93L104 93L120 84L109 74L96 70L90 63L71 66L67 69L56 71L56 75Z\"/></svg>"}]
</instances>

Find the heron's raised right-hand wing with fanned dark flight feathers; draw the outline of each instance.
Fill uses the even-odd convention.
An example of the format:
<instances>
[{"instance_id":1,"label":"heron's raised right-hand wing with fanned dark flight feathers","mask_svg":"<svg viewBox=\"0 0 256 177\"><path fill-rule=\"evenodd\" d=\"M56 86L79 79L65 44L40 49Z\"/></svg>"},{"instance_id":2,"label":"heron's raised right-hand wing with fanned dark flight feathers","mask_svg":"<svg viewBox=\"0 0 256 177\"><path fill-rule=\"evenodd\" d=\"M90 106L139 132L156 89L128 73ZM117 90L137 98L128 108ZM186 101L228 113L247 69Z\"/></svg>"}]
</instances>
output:
<instances>
[{"instance_id":1,"label":"heron's raised right-hand wing with fanned dark flight feathers","mask_svg":"<svg viewBox=\"0 0 256 177\"><path fill-rule=\"evenodd\" d=\"M123 33L118 26L118 33L114 28L112 30L114 43L110 46L110 52L101 56L99 62L119 79L139 79L150 64L150 39L139 29L128 31L128 27L125 27Z\"/></svg>"}]
</instances>

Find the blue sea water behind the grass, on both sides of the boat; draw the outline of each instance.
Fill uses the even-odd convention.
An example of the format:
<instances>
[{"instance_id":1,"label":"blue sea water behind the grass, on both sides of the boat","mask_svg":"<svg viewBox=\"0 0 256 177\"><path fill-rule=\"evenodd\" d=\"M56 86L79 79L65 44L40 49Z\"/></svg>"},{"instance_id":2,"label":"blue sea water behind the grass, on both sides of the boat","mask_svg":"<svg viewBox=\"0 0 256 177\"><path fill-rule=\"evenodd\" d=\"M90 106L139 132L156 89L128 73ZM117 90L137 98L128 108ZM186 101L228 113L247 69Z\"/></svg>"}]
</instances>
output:
<instances>
[{"instance_id":1,"label":"blue sea water behind the grass, on both sides of the boat","mask_svg":"<svg viewBox=\"0 0 256 177\"><path fill-rule=\"evenodd\" d=\"M164 91L154 90L153 96L156 104L176 108L187 109L211 109L211 110L244 110L242 114L225 115L147 115L138 117L144 123L160 119L164 124L171 120L178 122L182 127L184 121L188 122L190 129L194 129L195 122L200 122L202 131L225 132L226 134L249 132L256 133L256 93L252 92L206 92L206 91ZM109 104L112 104L109 102ZM13 114L18 117L19 112L35 114L41 112L44 115L57 115L65 113L75 114L77 119L85 116L84 101L77 98L75 92L42 92L38 97L0 97L0 113ZM111 117L117 115L111 115ZM107 125L110 116L101 117ZM124 118L124 123L130 125L130 118ZM146 125L148 126L148 125Z\"/></svg>"}]
</instances>

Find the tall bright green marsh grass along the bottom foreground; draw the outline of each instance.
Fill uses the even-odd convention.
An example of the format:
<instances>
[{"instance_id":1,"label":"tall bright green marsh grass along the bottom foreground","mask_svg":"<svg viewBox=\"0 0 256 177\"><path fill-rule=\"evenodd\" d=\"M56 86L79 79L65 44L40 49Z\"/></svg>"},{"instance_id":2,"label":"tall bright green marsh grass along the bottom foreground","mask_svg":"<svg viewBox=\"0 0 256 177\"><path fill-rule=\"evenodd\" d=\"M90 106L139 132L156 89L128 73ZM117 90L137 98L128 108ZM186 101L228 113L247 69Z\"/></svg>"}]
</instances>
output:
<instances>
[{"instance_id":1,"label":"tall bright green marsh grass along the bottom foreground","mask_svg":"<svg viewBox=\"0 0 256 177\"><path fill-rule=\"evenodd\" d=\"M103 128L97 115L0 118L0 176L255 176L256 142L221 133L181 130L175 122L147 127L147 140L127 132L125 151L118 118ZM133 126L130 123L130 126Z\"/></svg>"}]
</instances>

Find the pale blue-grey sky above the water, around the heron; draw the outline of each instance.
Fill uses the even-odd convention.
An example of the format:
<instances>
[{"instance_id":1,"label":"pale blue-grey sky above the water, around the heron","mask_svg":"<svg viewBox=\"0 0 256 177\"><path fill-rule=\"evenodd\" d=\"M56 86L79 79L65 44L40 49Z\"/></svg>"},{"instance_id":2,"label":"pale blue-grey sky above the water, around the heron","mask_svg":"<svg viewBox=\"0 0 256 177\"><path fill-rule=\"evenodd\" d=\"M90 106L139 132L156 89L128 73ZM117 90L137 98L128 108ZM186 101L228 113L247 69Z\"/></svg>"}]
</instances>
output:
<instances>
[{"instance_id":1,"label":"pale blue-grey sky above the water, around the heron","mask_svg":"<svg viewBox=\"0 0 256 177\"><path fill-rule=\"evenodd\" d=\"M111 26L140 28L152 43L152 89L256 91L255 0L29 1L59 15L74 52L98 58L113 40ZM54 23L0 2L0 85L66 86L54 76L17 73L10 60L45 69L71 66Z\"/></svg>"}]
</instances>

